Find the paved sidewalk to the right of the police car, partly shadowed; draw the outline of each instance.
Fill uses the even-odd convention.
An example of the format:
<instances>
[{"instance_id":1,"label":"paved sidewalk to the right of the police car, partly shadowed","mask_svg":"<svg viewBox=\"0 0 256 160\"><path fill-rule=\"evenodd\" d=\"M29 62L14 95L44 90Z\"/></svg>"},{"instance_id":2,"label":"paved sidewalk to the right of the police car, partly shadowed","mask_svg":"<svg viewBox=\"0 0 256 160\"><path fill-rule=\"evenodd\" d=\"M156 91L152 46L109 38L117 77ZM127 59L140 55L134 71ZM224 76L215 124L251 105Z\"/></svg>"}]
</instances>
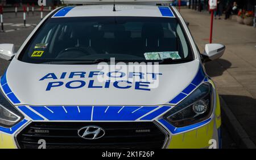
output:
<instances>
[{"instance_id":1,"label":"paved sidewalk to the right of the police car, partly shadowed","mask_svg":"<svg viewBox=\"0 0 256 160\"><path fill-rule=\"evenodd\" d=\"M209 42L210 15L183 9L192 35L201 51ZM256 143L256 29L236 20L214 20L213 42L224 44L224 56L206 64L219 94L250 139Z\"/></svg>"}]
</instances>

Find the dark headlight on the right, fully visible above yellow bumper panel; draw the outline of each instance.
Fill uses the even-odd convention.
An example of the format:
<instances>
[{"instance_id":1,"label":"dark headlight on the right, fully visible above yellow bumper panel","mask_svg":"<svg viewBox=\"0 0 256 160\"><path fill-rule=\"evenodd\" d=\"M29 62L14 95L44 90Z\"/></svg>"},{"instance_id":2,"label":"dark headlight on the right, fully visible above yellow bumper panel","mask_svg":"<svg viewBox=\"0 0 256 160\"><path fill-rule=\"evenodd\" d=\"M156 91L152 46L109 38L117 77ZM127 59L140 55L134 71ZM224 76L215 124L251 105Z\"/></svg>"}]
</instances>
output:
<instances>
[{"instance_id":1,"label":"dark headlight on the right, fully visible above yellow bumper panel","mask_svg":"<svg viewBox=\"0 0 256 160\"><path fill-rule=\"evenodd\" d=\"M212 85L204 83L163 118L175 127L184 127L208 119L212 110Z\"/></svg>"}]
</instances>

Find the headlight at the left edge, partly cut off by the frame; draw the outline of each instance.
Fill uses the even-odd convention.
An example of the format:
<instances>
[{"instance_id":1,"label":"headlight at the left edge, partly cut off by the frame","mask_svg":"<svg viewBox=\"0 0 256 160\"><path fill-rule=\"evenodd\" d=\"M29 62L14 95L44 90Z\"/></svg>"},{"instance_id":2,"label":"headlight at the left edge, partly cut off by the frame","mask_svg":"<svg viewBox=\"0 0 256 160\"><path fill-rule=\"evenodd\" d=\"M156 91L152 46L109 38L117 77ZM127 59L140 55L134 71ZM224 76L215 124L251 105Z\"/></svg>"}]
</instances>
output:
<instances>
[{"instance_id":1,"label":"headlight at the left edge, partly cut off by the frame","mask_svg":"<svg viewBox=\"0 0 256 160\"><path fill-rule=\"evenodd\" d=\"M0 89L0 126L13 127L23 118L24 116L11 105Z\"/></svg>"}]
</instances>

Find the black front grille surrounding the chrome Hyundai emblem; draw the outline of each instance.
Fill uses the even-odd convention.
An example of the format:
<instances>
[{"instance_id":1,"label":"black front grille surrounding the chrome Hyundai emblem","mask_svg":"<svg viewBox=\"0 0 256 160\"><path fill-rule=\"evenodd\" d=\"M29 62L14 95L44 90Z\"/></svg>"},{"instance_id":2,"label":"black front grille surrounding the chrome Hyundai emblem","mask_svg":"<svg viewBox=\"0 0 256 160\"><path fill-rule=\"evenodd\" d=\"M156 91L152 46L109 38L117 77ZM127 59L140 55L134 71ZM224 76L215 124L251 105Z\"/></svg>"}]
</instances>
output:
<instances>
[{"instance_id":1,"label":"black front grille surrounding the chrome Hyundai emblem","mask_svg":"<svg viewBox=\"0 0 256 160\"><path fill-rule=\"evenodd\" d=\"M105 130L100 139L86 140L78 134L85 126ZM20 148L162 148L166 135L153 122L32 122L16 136Z\"/></svg>"}]
</instances>

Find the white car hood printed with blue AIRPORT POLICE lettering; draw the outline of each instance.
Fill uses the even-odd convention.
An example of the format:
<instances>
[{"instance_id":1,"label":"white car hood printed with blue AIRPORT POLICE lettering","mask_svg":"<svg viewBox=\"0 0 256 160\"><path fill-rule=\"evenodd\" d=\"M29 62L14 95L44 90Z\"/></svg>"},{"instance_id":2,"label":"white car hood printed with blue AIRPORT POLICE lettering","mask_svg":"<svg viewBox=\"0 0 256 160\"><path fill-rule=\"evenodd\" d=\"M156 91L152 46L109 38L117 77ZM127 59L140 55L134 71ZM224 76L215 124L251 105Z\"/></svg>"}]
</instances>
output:
<instances>
[{"instance_id":1,"label":"white car hood printed with blue AIRPORT POLICE lettering","mask_svg":"<svg viewBox=\"0 0 256 160\"><path fill-rule=\"evenodd\" d=\"M198 60L159 65L159 71L153 72L159 73L155 74L155 80L159 82L158 87L150 90L144 86L147 83L138 83L140 80L129 80L131 83L121 82L115 86L114 81L109 85L106 85L105 81L100 83L97 76L89 76L90 72L101 71L97 64L31 64L13 59L6 71L6 79L20 101L18 105L164 105L191 83L200 65ZM85 77L80 77L70 76L71 72L86 73ZM143 75L151 72L146 71ZM96 83L89 84L90 80ZM71 81L77 82L72 84ZM81 81L84 81L85 85ZM56 87L47 88L49 83ZM84 86L79 88L79 85Z\"/></svg>"}]
</instances>

